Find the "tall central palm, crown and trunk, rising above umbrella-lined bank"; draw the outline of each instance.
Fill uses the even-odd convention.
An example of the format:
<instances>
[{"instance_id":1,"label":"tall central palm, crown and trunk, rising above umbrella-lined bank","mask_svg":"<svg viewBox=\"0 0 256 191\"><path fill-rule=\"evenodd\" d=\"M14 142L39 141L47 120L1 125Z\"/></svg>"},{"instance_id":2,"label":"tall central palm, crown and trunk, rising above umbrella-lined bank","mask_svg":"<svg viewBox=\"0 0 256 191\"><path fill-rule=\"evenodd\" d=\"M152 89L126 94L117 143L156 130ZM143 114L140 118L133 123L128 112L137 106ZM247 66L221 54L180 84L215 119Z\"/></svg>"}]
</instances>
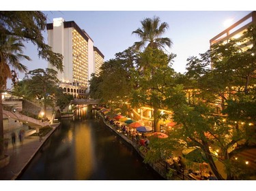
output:
<instances>
[{"instance_id":1,"label":"tall central palm, crown and trunk, rising above umbrella-lined bank","mask_svg":"<svg viewBox=\"0 0 256 191\"><path fill-rule=\"evenodd\" d=\"M136 34L141 38L141 41L134 43L134 47L137 49L145 48L145 51L141 56L141 60L138 61L137 65L139 66L139 72L141 75L143 75L147 81L153 82L156 71L162 67L167 67L171 61L171 59L165 60L164 57L166 55L163 50L165 50L165 46L170 48L172 41L168 37L161 37L165 31L169 29L169 24L167 24L167 22L162 22L160 24L160 18L158 16L154 16L154 18L145 18L141 21L141 25L141 28L132 32L132 34ZM157 58L155 58L155 56ZM160 58L161 56L162 58ZM175 54L170 54L166 58L168 59L168 57L174 58ZM159 58L160 60L157 60ZM155 94L156 92L151 92L152 90L154 90L154 88L147 87L147 94L151 95L150 105L153 107L154 127L156 128L156 131L158 131L157 116L159 107L156 99L158 96Z\"/></svg>"}]
</instances>

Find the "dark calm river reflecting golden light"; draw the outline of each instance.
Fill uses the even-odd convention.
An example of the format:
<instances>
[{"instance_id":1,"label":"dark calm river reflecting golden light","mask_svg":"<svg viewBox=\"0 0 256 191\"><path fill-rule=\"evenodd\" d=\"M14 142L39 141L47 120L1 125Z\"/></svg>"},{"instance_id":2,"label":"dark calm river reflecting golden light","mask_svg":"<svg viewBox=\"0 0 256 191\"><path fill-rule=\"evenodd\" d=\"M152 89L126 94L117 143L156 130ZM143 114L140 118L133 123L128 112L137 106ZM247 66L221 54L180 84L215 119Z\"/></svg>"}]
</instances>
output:
<instances>
[{"instance_id":1,"label":"dark calm river reflecting golden light","mask_svg":"<svg viewBox=\"0 0 256 191\"><path fill-rule=\"evenodd\" d=\"M20 180L161 180L101 119L66 118Z\"/></svg>"}]
</instances>

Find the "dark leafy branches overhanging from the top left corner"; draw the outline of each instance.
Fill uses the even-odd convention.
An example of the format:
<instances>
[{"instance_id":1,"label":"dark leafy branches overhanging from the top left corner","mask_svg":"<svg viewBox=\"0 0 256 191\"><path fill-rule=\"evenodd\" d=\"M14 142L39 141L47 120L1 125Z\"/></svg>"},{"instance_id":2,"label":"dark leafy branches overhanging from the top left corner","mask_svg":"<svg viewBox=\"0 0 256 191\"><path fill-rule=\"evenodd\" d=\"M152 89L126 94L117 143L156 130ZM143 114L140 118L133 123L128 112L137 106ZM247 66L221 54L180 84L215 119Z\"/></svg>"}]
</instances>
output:
<instances>
[{"instance_id":1,"label":"dark leafy branches overhanging from the top left corner","mask_svg":"<svg viewBox=\"0 0 256 191\"><path fill-rule=\"evenodd\" d=\"M63 71L61 54L44 43L42 31L46 29L46 16L42 12L0 12L0 33L16 37L20 41L31 41L38 48L38 56L60 71Z\"/></svg>"}]
</instances>

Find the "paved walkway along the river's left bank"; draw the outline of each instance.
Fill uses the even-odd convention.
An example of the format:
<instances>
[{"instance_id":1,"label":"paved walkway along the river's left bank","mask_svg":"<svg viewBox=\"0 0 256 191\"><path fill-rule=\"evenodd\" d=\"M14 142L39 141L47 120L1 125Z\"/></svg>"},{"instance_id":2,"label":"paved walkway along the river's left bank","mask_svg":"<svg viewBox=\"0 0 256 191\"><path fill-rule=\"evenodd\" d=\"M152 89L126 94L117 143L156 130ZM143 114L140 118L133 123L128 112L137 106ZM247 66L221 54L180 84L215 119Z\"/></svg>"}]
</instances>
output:
<instances>
[{"instance_id":1,"label":"paved walkway along the river's left bank","mask_svg":"<svg viewBox=\"0 0 256 191\"><path fill-rule=\"evenodd\" d=\"M20 145L18 139L13 147L9 143L8 150L5 152L10 156L10 163L0 169L0 180L14 180L23 171L28 162L38 152L44 141L55 131L59 124L53 124L53 130L49 132L40 141L39 137L25 137L23 145Z\"/></svg>"}]
</instances>

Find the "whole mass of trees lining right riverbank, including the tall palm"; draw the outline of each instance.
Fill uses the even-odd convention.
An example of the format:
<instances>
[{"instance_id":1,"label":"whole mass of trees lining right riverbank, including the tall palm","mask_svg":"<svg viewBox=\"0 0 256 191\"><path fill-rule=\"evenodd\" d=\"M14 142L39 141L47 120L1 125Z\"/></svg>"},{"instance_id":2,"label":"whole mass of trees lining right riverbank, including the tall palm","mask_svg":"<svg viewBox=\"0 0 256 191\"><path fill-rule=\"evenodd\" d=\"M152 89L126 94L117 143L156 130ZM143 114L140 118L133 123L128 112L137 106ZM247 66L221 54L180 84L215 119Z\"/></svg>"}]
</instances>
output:
<instances>
[{"instance_id":1,"label":"whole mass of trees lining right riverbank, including the tall palm","mask_svg":"<svg viewBox=\"0 0 256 191\"><path fill-rule=\"evenodd\" d=\"M154 131L160 131L159 120L175 122L167 139L152 141L145 162L198 147L217 179L250 179L254 167L237 156L256 145L255 26L240 39L191 56L181 74L172 68L175 54L165 49L171 44L160 40L163 33L158 34L157 27L162 25L155 21L143 20L137 30L141 42L115 54L102 65L100 75L92 75L90 97L125 116L133 108L152 108ZM244 50L238 46L244 41L253 46Z\"/></svg>"}]
</instances>

